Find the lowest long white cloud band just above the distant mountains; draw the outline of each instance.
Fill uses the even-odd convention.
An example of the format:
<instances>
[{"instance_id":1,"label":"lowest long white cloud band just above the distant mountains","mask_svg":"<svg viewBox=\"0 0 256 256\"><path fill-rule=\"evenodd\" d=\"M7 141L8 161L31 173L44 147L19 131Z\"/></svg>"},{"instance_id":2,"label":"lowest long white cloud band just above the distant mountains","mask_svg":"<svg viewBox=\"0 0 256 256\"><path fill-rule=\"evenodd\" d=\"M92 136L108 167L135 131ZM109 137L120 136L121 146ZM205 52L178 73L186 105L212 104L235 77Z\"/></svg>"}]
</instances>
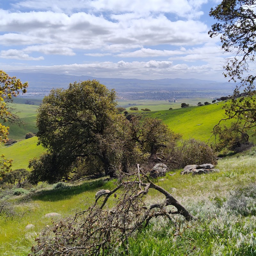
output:
<instances>
[{"instance_id":1,"label":"lowest long white cloud band just above the distant mountains","mask_svg":"<svg viewBox=\"0 0 256 256\"><path fill-rule=\"evenodd\" d=\"M201 78L202 75L209 79L222 79L222 67L218 64L193 65L177 64L173 65L172 61L118 61L118 62L93 62L84 64L54 65L54 66L4 66L7 71L21 72L43 72L53 74L70 74L70 75L88 75L95 77L122 77L156 79L156 78L174 78L174 77L195 77ZM214 80L215 80L214 79Z\"/></svg>"}]
</instances>

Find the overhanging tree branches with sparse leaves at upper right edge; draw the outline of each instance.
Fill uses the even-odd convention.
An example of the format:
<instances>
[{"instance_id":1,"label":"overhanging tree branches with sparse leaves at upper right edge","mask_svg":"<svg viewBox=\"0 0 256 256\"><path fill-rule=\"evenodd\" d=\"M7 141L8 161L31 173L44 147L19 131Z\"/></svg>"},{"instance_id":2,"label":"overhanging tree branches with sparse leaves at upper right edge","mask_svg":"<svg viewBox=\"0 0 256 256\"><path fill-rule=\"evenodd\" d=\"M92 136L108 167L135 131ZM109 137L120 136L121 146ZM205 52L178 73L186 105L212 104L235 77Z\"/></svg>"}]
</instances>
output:
<instances>
[{"instance_id":1,"label":"overhanging tree branches with sparse leaves at upper right edge","mask_svg":"<svg viewBox=\"0 0 256 256\"><path fill-rule=\"evenodd\" d=\"M255 7L255 0L223 0L210 12L218 22L212 25L209 35L220 35L222 49L232 53L224 66L224 76L229 77L229 81L239 82L231 104L225 106L226 119L237 119L241 123L241 132L256 126L256 75L253 67L256 53ZM241 89L246 92L245 96L241 97Z\"/></svg>"}]
</instances>

